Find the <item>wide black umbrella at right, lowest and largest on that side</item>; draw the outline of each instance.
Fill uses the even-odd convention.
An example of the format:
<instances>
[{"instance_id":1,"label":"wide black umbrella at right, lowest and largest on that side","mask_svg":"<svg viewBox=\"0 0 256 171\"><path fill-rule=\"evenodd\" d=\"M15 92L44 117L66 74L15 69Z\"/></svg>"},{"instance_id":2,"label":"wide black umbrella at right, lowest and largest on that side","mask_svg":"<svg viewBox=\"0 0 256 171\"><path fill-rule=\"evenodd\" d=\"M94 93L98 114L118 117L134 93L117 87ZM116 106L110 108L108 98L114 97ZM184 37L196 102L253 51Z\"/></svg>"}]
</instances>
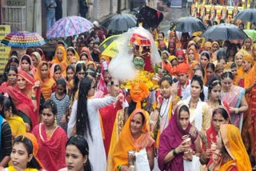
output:
<instances>
[{"instance_id":1,"label":"wide black umbrella at right, lowest and largest on that side","mask_svg":"<svg viewBox=\"0 0 256 171\"><path fill-rule=\"evenodd\" d=\"M206 40L235 40L247 38L245 32L233 24L210 26L201 36L206 38Z\"/></svg>"}]
</instances>

